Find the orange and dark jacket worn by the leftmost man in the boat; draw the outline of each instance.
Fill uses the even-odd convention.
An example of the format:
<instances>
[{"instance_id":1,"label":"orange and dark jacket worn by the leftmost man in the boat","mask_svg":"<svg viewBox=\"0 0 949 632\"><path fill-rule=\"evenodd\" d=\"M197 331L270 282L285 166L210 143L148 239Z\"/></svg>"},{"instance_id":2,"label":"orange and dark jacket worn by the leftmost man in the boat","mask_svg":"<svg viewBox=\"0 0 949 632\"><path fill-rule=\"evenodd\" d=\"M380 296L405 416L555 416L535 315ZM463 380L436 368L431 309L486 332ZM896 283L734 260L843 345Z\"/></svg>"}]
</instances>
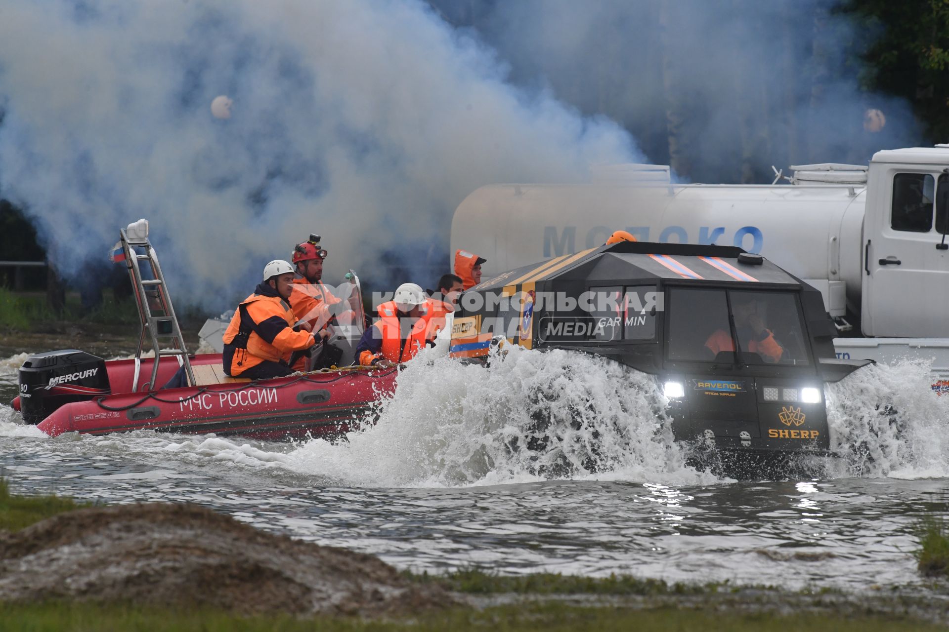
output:
<instances>
[{"instance_id":1,"label":"orange and dark jacket worn by the leftmost man in the boat","mask_svg":"<svg viewBox=\"0 0 949 632\"><path fill-rule=\"evenodd\" d=\"M284 323L283 327L277 319ZM287 363L293 352L312 347L313 334L294 332L295 322L293 312L282 298L251 294L237 306L224 332L225 372L237 377L264 361ZM270 336L270 332L274 335ZM270 342L267 337L271 338Z\"/></svg>"}]
</instances>

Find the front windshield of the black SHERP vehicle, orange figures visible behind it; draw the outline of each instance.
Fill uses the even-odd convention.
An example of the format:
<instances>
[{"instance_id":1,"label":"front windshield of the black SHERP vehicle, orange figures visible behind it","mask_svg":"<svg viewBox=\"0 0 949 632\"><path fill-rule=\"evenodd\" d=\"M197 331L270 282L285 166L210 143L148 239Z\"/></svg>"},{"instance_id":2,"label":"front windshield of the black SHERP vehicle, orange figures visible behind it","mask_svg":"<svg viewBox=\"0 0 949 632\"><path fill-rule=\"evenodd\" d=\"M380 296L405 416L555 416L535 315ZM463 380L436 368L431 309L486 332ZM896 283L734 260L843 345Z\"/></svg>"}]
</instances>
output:
<instances>
[{"instance_id":1,"label":"front windshield of the black SHERP vehicle, orange figures visible behind it","mask_svg":"<svg viewBox=\"0 0 949 632\"><path fill-rule=\"evenodd\" d=\"M667 310L670 360L808 364L791 292L670 288Z\"/></svg>"}]
</instances>

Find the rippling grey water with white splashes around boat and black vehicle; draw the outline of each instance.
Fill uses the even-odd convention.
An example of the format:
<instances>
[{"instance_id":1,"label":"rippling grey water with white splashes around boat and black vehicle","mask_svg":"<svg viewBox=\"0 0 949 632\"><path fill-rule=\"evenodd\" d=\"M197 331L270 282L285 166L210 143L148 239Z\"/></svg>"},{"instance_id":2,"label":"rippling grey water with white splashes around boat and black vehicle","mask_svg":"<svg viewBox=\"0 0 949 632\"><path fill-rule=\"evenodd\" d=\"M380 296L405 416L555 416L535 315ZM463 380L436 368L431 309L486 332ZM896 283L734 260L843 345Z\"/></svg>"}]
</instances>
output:
<instances>
[{"instance_id":1,"label":"rippling grey water with white splashes around boat and black vehicle","mask_svg":"<svg viewBox=\"0 0 949 632\"><path fill-rule=\"evenodd\" d=\"M95 342L0 341L0 401L15 394L18 353ZM380 423L337 444L151 432L49 439L3 406L0 466L20 490L195 502L402 569L931 589L915 569L913 525L949 488L949 414L926 392L924 367L878 368L828 389L831 424L848 444L814 478L735 482L685 464L635 376L566 354L514 353L501 364L410 367ZM556 385L564 407L596 399L599 474L569 467L589 456L585 430L563 428L549 454L510 448L538 385ZM870 400L881 397L897 398L901 427L875 420Z\"/></svg>"}]
</instances>

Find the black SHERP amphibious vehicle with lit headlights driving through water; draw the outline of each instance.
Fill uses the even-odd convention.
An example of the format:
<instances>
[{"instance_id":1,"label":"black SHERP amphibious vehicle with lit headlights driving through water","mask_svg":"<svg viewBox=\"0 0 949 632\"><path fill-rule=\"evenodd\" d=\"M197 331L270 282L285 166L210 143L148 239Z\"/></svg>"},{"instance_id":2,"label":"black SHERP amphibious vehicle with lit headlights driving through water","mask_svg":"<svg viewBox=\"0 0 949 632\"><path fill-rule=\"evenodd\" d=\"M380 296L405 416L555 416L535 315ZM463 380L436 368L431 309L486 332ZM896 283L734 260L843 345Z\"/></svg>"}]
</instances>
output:
<instances>
[{"instance_id":1,"label":"black SHERP amphibious vehicle with lit headlights driving through water","mask_svg":"<svg viewBox=\"0 0 949 632\"><path fill-rule=\"evenodd\" d=\"M451 355L506 339L595 353L655 375L677 440L748 456L825 453L839 360L818 290L741 248L605 245L484 280L462 296Z\"/></svg>"}]
</instances>

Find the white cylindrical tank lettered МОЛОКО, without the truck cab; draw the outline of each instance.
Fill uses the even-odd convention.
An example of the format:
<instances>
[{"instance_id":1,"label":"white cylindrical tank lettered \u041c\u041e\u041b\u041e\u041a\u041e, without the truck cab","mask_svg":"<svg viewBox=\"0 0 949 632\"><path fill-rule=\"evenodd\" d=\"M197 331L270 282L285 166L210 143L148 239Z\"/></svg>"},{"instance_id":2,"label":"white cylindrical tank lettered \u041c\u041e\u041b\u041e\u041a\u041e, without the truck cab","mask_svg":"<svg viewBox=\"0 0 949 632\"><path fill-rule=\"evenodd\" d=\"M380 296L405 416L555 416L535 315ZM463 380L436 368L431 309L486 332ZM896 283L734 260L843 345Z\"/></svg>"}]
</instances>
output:
<instances>
[{"instance_id":1,"label":"white cylindrical tank lettered \u041c\u041e\u041b\u041e\u041a\u041e, without the truck cab","mask_svg":"<svg viewBox=\"0 0 949 632\"><path fill-rule=\"evenodd\" d=\"M837 186L492 185L458 206L451 247L484 257L485 279L605 243L739 245L801 279L843 280L859 304L865 190Z\"/></svg>"}]
</instances>

